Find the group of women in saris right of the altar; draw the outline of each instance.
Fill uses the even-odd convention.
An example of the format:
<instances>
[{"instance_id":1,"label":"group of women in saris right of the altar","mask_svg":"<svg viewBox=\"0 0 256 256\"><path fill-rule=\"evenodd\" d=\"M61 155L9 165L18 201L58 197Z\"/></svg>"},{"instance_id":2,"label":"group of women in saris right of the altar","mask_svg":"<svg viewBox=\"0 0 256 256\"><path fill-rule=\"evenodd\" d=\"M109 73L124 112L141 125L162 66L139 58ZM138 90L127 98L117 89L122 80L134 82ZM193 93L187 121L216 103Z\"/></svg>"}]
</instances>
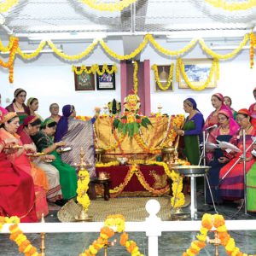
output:
<instances>
[{"instance_id":1,"label":"group of women in saris right of the altar","mask_svg":"<svg viewBox=\"0 0 256 256\"><path fill-rule=\"evenodd\" d=\"M256 88L253 90L256 96ZM215 108L204 122L203 115L197 109L196 102L188 98L183 102L183 108L189 116L185 120L183 130L177 130L184 137L184 154L191 165L198 165L201 160L202 132L206 131L207 166L211 166L207 174L207 203L223 201L241 201L244 199L244 167L242 154L246 153L246 190L247 211L256 212L256 163L252 154L254 137L256 135L256 104L249 110L242 108L235 111L230 107L229 96L220 93L212 95L212 107ZM234 119L236 118L236 120ZM243 148L243 132L245 133L246 148ZM237 150L218 147L218 142L235 145ZM216 147L214 146L216 145ZM211 190L211 191L210 191ZM212 192L212 193L211 193ZM212 194L212 195L211 195Z\"/></svg>"}]
</instances>

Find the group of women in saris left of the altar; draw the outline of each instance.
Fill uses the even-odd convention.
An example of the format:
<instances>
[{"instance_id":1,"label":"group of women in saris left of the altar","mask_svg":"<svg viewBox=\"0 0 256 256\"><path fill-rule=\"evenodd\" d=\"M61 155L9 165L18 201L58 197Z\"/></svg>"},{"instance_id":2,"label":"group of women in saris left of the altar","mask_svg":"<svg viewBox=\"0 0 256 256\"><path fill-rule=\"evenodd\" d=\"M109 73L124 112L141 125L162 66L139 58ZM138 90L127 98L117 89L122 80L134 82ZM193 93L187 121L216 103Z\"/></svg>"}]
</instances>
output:
<instances>
[{"instance_id":1,"label":"group of women in saris left of the altar","mask_svg":"<svg viewBox=\"0 0 256 256\"><path fill-rule=\"evenodd\" d=\"M35 113L38 99L30 98L27 105L25 100L26 91L17 89L13 103L0 109L0 216L35 222L49 213L47 201L62 206L77 195L75 163L80 148L90 162L90 176L95 176L92 122L99 110L84 122L74 119L72 105L64 106L60 116L54 103L51 116L42 121ZM78 143L81 136L85 143ZM67 144L76 155L60 154L60 147Z\"/></svg>"}]
</instances>

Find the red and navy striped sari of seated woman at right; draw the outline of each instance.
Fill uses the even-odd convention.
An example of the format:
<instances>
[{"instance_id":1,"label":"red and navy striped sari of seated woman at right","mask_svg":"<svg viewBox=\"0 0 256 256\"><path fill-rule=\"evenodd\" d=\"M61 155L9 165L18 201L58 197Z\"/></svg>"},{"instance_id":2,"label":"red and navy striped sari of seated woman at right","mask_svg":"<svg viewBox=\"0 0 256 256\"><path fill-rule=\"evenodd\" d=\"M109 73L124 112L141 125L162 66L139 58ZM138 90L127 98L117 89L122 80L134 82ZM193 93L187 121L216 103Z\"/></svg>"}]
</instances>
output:
<instances>
[{"instance_id":1,"label":"red and navy striped sari of seated woman at right","mask_svg":"<svg viewBox=\"0 0 256 256\"><path fill-rule=\"evenodd\" d=\"M246 148L253 143L252 136L255 136L255 130L251 132L250 135L246 135ZM224 200L237 200L242 199L244 196L244 176L243 176L243 162L239 162L236 166L229 172L230 167L234 165L236 160L242 154L242 137L238 137L237 147L241 149L241 153L237 153L236 157L225 165L219 172L220 185L219 193ZM251 150L247 152L247 157L251 156ZM246 163L246 172L249 172L252 168L255 159L248 160ZM224 177L224 175L229 172L229 174ZM224 177L223 180L221 180Z\"/></svg>"}]
</instances>

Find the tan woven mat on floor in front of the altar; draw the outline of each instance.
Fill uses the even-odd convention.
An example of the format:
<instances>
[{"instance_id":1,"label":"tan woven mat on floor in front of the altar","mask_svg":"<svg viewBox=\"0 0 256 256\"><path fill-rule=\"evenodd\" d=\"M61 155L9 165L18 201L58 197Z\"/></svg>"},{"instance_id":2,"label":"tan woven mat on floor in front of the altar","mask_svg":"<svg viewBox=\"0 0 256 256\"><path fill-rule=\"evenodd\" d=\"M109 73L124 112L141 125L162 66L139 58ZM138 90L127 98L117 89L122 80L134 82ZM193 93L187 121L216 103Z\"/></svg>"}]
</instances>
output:
<instances>
[{"instance_id":1,"label":"tan woven mat on floor in front of the altar","mask_svg":"<svg viewBox=\"0 0 256 256\"><path fill-rule=\"evenodd\" d=\"M118 197L104 201L102 198L90 201L88 215L92 216L92 221L104 221L110 214L122 214L126 221L143 221L148 217L145 205L149 199L160 202L160 212L157 214L162 220L169 220L171 215L171 203L169 196L162 197ZM189 205L190 198L186 197L186 206ZM73 200L61 208L57 216L61 222L73 222L79 215L81 206Z\"/></svg>"}]
</instances>

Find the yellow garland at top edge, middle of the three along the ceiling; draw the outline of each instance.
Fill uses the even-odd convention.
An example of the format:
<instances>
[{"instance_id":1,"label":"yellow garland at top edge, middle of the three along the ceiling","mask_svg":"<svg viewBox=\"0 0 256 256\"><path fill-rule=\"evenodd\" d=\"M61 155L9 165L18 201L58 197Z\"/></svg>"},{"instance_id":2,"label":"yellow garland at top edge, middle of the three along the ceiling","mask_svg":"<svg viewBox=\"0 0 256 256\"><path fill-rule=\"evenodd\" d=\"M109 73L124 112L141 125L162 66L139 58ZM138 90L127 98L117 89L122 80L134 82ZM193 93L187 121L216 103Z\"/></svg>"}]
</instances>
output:
<instances>
[{"instance_id":1,"label":"yellow garland at top edge, middle of the three along the ceiling","mask_svg":"<svg viewBox=\"0 0 256 256\"><path fill-rule=\"evenodd\" d=\"M87 4L92 9L97 9L99 11L109 11L109 12L116 12L122 11L131 3L136 3L137 0L121 0L116 3L98 3L97 1L93 0L80 0L82 3Z\"/></svg>"}]
</instances>

